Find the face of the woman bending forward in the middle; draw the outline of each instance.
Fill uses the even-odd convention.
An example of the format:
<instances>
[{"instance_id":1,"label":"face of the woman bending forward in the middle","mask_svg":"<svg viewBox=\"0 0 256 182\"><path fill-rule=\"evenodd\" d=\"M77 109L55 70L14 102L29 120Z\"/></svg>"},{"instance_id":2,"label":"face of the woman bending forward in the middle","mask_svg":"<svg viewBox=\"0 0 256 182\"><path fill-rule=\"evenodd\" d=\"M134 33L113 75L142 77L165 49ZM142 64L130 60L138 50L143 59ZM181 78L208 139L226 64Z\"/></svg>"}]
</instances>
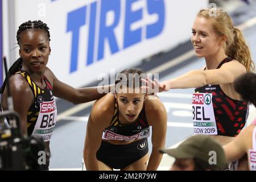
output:
<instances>
[{"instance_id":1,"label":"face of the woman bending forward in the middle","mask_svg":"<svg viewBox=\"0 0 256 182\"><path fill-rule=\"evenodd\" d=\"M119 120L121 123L134 122L143 108L145 94L118 93L115 94L118 102Z\"/></svg>"}]
</instances>

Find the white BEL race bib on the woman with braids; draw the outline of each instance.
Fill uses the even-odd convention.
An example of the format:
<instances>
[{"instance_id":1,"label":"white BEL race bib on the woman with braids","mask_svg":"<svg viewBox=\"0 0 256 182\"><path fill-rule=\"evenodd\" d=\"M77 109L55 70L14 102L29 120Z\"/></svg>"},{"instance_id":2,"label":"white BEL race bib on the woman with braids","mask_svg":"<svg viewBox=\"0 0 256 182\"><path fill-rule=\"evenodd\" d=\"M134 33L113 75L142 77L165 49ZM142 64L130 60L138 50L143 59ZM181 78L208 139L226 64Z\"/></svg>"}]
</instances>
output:
<instances>
[{"instance_id":1,"label":"white BEL race bib on the woman with braids","mask_svg":"<svg viewBox=\"0 0 256 182\"><path fill-rule=\"evenodd\" d=\"M57 118L55 101L40 103L40 112L32 136L40 137L44 142L51 139Z\"/></svg>"}]
</instances>

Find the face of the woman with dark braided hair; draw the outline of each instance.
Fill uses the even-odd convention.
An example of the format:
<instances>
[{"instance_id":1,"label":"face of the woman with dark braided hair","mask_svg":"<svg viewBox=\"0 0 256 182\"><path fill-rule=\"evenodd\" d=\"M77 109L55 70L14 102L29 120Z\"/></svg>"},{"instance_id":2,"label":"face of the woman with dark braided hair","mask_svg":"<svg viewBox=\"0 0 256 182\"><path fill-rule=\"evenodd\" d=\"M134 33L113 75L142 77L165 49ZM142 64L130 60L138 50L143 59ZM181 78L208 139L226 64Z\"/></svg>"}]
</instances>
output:
<instances>
[{"instance_id":1,"label":"face of the woman with dark braided hair","mask_svg":"<svg viewBox=\"0 0 256 182\"><path fill-rule=\"evenodd\" d=\"M31 73L44 72L51 52L46 31L28 29L19 36L19 55L22 57L23 67Z\"/></svg>"}]
</instances>

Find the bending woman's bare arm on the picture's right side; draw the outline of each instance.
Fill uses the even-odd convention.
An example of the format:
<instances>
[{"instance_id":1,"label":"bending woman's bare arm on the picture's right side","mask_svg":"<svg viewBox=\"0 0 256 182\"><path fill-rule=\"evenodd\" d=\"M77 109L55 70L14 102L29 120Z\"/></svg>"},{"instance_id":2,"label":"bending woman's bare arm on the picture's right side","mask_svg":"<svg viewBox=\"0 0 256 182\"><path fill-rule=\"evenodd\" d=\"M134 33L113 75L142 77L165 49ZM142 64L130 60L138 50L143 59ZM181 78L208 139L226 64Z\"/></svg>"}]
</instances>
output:
<instances>
[{"instance_id":1,"label":"bending woman's bare arm on the picture's right side","mask_svg":"<svg viewBox=\"0 0 256 182\"><path fill-rule=\"evenodd\" d=\"M148 124L152 126L152 152L148 160L147 171L158 169L163 154L159 149L164 148L166 142L167 113L159 99L146 100L145 108Z\"/></svg>"}]
</instances>

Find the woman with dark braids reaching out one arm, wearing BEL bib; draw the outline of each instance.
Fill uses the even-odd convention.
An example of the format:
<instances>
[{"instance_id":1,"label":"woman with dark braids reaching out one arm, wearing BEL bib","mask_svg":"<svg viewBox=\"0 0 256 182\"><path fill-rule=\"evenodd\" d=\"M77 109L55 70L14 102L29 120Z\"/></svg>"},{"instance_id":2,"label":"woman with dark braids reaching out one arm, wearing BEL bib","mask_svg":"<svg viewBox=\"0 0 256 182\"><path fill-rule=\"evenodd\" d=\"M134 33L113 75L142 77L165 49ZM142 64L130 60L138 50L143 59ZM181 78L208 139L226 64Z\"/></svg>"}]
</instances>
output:
<instances>
[{"instance_id":1,"label":"woman with dark braids reaching out one arm, wearing BEL bib","mask_svg":"<svg viewBox=\"0 0 256 182\"><path fill-rule=\"evenodd\" d=\"M14 110L20 115L22 135L40 137L49 151L49 141L56 123L57 109L53 96L80 104L96 100L97 88L75 89L59 81L46 67L51 53L50 34L46 23L28 21L19 26L16 39L19 45L19 59L9 69L10 91ZM7 109L6 80L3 82L2 109ZM44 169L48 169L49 159Z\"/></svg>"}]
</instances>

